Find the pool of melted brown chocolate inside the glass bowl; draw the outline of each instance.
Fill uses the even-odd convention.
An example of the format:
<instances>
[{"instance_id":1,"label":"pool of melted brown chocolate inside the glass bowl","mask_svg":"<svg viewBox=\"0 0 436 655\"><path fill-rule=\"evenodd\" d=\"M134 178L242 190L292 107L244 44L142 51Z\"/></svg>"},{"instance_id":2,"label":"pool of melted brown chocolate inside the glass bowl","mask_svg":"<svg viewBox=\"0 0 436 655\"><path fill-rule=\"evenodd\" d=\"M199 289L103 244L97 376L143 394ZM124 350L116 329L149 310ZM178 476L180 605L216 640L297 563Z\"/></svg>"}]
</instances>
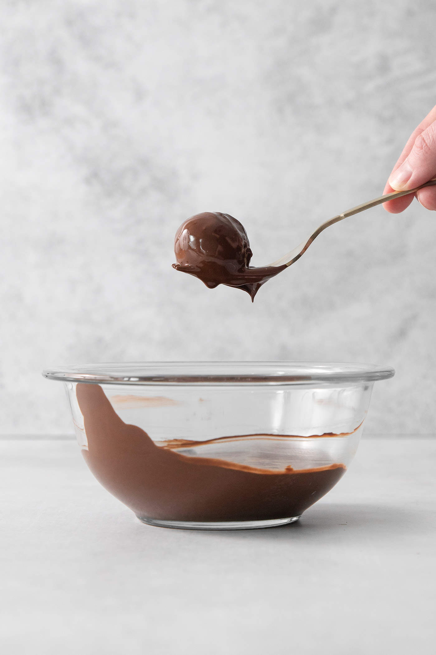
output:
<instances>
[{"instance_id":1,"label":"pool of melted brown chocolate inside the glass bowl","mask_svg":"<svg viewBox=\"0 0 436 655\"><path fill-rule=\"evenodd\" d=\"M158 446L144 430L122 421L99 384L78 383L76 397L84 417L88 450L82 452L89 468L141 519L212 522L298 517L346 470L344 464L268 470L189 457L176 451L182 441Z\"/></svg>"}]
</instances>

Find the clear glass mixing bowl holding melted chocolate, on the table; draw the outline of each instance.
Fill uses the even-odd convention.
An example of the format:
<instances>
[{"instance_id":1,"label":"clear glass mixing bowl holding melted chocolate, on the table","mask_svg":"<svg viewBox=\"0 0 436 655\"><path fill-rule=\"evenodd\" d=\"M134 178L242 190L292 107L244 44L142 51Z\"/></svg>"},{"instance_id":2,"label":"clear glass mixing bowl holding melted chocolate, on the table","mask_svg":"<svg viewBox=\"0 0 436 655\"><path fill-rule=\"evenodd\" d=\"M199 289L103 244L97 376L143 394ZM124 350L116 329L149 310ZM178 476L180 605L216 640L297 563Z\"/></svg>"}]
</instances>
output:
<instances>
[{"instance_id":1,"label":"clear glass mixing bowl holding melted chocolate, on the table","mask_svg":"<svg viewBox=\"0 0 436 655\"><path fill-rule=\"evenodd\" d=\"M65 384L90 470L144 523L244 529L296 521L348 468L388 366L90 364Z\"/></svg>"}]
</instances>

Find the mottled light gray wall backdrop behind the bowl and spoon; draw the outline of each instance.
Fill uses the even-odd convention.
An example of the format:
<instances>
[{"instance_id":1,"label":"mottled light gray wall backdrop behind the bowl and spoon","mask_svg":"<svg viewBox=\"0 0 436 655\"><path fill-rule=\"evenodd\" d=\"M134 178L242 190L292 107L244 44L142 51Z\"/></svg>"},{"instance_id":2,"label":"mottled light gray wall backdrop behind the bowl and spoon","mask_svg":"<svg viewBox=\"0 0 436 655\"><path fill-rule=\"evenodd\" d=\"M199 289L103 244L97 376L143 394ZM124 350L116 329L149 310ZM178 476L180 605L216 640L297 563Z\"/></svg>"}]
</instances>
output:
<instances>
[{"instance_id":1,"label":"mottled light gray wall backdrop behind the bowl and spoon","mask_svg":"<svg viewBox=\"0 0 436 655\"><path fill-rule=\"evenodd\" d=\"M171 269L227 212L253 264L380 195L436 103L428 0L2 0L1 432L71 432L48 365L394 365L367 434L436 432L436 221L329 228L256 297Z\"/></svg>"}]
</instances>

